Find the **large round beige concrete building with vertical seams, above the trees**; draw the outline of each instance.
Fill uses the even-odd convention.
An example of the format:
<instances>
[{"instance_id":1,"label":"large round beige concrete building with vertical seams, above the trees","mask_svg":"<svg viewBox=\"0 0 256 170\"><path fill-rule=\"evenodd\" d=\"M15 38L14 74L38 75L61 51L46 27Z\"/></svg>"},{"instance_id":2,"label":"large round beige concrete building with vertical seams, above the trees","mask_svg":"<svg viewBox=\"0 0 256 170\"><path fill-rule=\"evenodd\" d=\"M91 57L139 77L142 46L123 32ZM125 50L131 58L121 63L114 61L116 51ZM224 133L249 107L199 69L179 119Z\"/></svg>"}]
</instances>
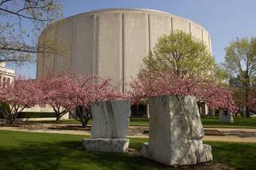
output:
<instances>
[{"instance_id":1,"label":"large round beige concrete building with vertical seams, above the trees","mask_svg":"<svg viewBox=\"0 0 256 170\"><path fill-rule=\"evenodd\" d=\"M210 34L202 26L158 10L94 10L65 18L54 34L69 53L65 57L39 54L37 77L46 75L46 70L73 68L78 73L129 82L158 38L174 30L183 30L202 40L211 51ZM52 34L46 28L41 37ZM123 84L122 90L125 89Z\"/></svg>"}]
</instances>

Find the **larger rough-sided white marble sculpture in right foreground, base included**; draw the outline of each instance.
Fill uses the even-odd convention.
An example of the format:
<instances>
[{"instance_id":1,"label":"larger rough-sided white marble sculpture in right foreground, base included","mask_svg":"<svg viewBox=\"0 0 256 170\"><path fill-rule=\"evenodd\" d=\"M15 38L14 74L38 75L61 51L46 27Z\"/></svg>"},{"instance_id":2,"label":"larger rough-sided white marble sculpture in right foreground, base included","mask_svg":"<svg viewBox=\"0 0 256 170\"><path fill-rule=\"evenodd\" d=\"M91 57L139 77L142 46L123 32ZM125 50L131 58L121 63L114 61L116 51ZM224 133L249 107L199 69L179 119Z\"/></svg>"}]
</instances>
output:
<instances>
[{"instance_id":1,"label":"larger rough-sided white marble sculpture in right foreground, base included","mask_svg":"<svg viewBox=\"0 0 256 170\"><path fill-rule=\"evenodd\" d=\"M142 156L167 165L198 164L213 159L204 135L197 100L192 96L150 97L149 143Z\"/></svg>"}]
</instances>

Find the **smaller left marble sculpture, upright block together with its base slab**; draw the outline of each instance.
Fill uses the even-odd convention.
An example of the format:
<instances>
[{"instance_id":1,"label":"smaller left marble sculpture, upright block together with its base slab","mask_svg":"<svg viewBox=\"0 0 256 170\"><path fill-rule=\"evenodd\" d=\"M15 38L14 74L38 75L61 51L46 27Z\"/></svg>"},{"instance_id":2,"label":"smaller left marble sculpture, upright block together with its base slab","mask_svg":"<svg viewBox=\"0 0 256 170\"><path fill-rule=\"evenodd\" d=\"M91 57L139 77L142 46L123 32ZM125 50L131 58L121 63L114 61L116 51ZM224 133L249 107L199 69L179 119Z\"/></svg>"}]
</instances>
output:
<instances>
[{"instance_id":1,"label":"smaller left marble sculpture, upright block together with its base slab","mask_svg":"<svg viewBox=\"0 0 256 170\"><path fill-rule=\"evenodd\" d=\"M83 147L93 152L127 152L130 101L97 102L92 116L90 139L83 139Z\"/></svg>"}]
</instances>

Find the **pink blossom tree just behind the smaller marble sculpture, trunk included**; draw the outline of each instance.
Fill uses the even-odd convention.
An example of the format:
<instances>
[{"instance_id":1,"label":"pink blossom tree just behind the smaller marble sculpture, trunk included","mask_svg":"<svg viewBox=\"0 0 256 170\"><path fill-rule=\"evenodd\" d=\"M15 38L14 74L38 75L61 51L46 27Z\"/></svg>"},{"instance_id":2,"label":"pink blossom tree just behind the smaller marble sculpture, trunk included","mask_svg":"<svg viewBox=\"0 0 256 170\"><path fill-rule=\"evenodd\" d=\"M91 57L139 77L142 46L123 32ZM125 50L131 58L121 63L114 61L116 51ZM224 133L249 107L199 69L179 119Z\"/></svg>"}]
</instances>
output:
<instances>
[{"instance_id":1,"label":"pink blossom tree just behind the smaller marble sculpture, trunk included","mask_svg":"<svg viewBox=\"0 0 256 170\"><path fill-rule=\"evenodd\" d=\"M114 85L108 78L95 75L82 76L78 73L70 73L72 80L66 86L66 95L69 98L67 110L70 110L71 117L80 121L85 127L90 120L91 107L97 101L114 101L127 99L127 96L119 93L119 84Z\"/></svg>"}]
</instances>

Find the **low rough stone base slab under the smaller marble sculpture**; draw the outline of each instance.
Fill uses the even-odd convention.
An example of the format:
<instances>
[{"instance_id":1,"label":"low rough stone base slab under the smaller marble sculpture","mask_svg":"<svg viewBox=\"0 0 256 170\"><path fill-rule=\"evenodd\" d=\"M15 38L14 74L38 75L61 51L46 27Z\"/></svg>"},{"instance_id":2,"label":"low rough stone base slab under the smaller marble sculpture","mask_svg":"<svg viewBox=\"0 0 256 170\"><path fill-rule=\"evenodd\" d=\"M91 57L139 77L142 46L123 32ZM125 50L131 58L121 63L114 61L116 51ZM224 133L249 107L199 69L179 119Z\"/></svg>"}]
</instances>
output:
<instances>
[{"instance_id":1,"label":"low rough stone base slab under the smaller marble sculpture","mask_svg":"<svg viewBox=\"0 0 256 170\"><path fill-rule=\"evenodd\" d=\"M82 146L89 152L128 152L129 139L88 139L82 140Z\"/></svg>"}]
</instances>

